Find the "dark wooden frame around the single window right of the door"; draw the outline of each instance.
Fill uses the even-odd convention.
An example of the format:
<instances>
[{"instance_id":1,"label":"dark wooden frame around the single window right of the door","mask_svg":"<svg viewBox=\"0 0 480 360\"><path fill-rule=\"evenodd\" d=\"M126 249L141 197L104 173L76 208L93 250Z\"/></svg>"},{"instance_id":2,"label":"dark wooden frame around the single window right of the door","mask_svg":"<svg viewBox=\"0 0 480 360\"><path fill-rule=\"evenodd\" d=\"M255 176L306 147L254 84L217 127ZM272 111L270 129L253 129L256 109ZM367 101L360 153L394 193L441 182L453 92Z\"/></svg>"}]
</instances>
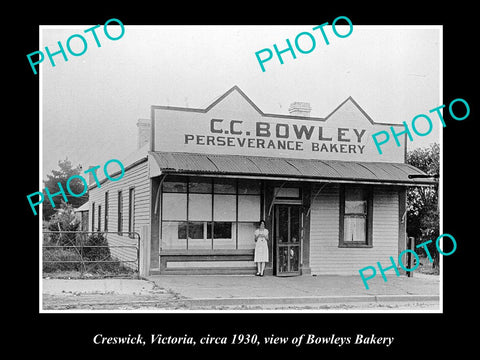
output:
<instances>
[{"instance_id":1,"label":"dark wooden frame around the single window right of the door","mask_svg":"<svg viewBox=\"0 0 480 360\"><path fill-rule=\"evenodd\" d=\"M345 241L345 189L356 187L365 190L367 194L366 234L365 241ZM339 239L340 248L372 248L373 247L373 187L369 185L341 184L339 189Z\"/></svg>"}]
</instances>

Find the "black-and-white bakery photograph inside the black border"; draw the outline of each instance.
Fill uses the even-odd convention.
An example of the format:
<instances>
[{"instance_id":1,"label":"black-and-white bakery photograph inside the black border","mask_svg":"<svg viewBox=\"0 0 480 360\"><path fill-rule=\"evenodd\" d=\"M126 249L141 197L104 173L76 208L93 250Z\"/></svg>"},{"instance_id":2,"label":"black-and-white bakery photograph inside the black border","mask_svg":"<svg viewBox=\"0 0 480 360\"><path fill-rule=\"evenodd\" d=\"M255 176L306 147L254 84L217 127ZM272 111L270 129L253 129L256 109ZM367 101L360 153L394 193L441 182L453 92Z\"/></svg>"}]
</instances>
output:
<instances>
[{"instance_id":1,"label":"black-and-white bakery photograph inside the black border","mask_svg":"<svg viewBox=\"0 0 480 360\"><path fill-rule=\"evenodd\" d=\"M441 27L109 21L40 29L42 310L441 311Z\"/></svg>"}]
</instances>

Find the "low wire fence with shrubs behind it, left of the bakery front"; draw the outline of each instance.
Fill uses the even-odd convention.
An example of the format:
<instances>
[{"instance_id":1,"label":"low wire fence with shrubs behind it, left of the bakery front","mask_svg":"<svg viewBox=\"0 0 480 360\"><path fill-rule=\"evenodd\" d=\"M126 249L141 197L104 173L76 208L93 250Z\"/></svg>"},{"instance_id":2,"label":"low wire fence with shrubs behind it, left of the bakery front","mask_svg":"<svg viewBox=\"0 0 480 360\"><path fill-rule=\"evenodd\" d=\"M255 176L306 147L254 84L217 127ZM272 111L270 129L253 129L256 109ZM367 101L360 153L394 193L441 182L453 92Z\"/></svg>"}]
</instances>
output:
<instances>
[{"instance_id":1,"label":"low wire fence with shrubs behind it, left of the bakery front","mask_svg":"<svg viewBox=\"0 0 480 360\"><path fill-rule=\"evenodd\" d=\"M42 267L44 276L63 272L80 277L139 277L140 234L43 231Z\"/></svg>"}]
</instances>

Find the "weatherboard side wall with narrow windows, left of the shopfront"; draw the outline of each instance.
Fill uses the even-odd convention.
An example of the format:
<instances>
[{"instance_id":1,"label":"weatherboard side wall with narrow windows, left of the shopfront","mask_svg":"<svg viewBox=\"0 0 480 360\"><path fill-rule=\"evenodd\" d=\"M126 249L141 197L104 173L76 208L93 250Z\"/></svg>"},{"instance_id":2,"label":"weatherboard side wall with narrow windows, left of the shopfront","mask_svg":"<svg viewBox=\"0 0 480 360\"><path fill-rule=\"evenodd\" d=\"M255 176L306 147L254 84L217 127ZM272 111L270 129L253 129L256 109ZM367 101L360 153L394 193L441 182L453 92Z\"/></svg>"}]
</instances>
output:
<instances>
[{"instance_id":1,"label":"weatherboard side wall with narrow windows, left of the shopfront","mask_svg":"<svg viewBox=\"0 0 480 360\"><path fill-rule=\"evenodd\" d=\"M114 176L118 177L118 176ZM131 191L133 189L133 191ZM108 192L108 204L105 204L105 193ZM121 212L119 212L119 193L121 192ZM130 195L133 199L130 200ZM95 218L90 218L89 229L94 231L108 231L108 244L112 246L110 252L113 257L125 261L125 265L133 269L137 268L137 252L134 247L122 248L115 246L136 246L138 237L130 237L130 201L133 210L132 231L140 234L141 228L150 225L150 179L148 177L148 162L146 159L137 161L132 166L125 168L125 174L118 181L107 180L101 183L100 188L94 187L89 191L89 213L92 214L92 207L95 208ZM98 211L101 206L100 228L98 228ZM105 218L105 210L108 206L108 219ZM119 227L119 215L122 222ZM108 221L107 230L105 221ZM124 232L123 234L121 232ZM149 239L142 239L147 243Z\"/></svg>"}]
</instances>

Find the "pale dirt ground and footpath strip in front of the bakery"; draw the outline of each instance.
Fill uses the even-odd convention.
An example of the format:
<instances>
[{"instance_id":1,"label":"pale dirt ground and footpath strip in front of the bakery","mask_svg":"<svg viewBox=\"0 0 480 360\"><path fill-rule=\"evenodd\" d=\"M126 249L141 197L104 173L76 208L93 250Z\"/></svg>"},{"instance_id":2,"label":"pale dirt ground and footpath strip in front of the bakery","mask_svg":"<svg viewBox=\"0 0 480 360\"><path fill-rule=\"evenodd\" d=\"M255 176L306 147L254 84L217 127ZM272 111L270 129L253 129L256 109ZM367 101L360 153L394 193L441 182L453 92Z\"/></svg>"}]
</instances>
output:
<instances>
[{"instance_id":1,"label":"pale dirt ground and footpath strip in front of the bakery","mask_svg":"<svg viewBox=\"0 0 480 360\"><path fill-rule=\"evenodd\" d=\"M366 292L355 277L300 277L293 281L240 276L235 280L232 284L229 277L185 278L173 275L149 279L45 278L42 281L41 307L45 311L137 312L439 310L438 300L432 299L437 294L438 279L432 278L432 275L418 274L412 279L397 277L388 283L377 279L377 283L372 285L376 292L372 293ZM419 294L432 296L422 298ZM386 297L382 299L380 295ZM294 301L297 296L299 300ZM352 301L352 296L365 298ZM243 300L232 301L235 298ZM269 301L254 301L257 298ZM272 301L275 298L278 300Z\"/></svg>"}]
</instances>

